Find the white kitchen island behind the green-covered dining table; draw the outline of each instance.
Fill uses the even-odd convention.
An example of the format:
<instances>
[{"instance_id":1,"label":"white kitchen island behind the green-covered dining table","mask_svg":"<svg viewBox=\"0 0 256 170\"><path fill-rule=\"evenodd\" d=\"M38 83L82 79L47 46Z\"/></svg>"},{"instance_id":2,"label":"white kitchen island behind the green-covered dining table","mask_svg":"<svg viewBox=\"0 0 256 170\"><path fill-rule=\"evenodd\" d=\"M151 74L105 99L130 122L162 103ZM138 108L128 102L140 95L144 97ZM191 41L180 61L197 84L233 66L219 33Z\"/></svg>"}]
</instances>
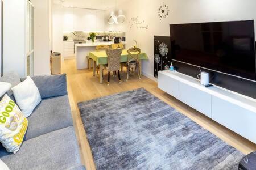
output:
<instances>
[{"instance_id":1,"label":"white kitchen island behind the green-covered dining table","mask_svg":"<svg viewBox=\"0 0 256 170\"><path fill-rule=\"evenodd\" d=\"M94 43L90 42L90 43L83 43L83 44L75 44L75 56L76 56L77 69L88 68L88 60L86 56L88 56L90 52L95 51L96 46L108 45L111 48L112 44L113 42L94 42Z\"/></svg>"}]
</instances>

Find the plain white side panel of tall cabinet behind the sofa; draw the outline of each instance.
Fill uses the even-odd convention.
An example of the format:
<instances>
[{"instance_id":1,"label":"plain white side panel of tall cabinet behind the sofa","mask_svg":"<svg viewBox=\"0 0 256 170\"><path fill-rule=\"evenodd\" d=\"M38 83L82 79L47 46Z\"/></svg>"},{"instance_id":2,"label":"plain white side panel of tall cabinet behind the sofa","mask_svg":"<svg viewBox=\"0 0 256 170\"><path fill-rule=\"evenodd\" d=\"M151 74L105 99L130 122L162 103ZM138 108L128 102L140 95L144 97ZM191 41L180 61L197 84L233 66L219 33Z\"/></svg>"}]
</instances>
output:
<instances>
[{"instance_id":1,"label":"plain white side panel of tall cabinet behind the sofa","mask_svg":"<svg viewBox=\"0 0 256 170\"><path fill-rule=\"evenodd\" d=\"M26 1L3 3L3 74L16 71L26 76ZM10 15L13 14L13 15Z\"/></svg>"}]
</instances>

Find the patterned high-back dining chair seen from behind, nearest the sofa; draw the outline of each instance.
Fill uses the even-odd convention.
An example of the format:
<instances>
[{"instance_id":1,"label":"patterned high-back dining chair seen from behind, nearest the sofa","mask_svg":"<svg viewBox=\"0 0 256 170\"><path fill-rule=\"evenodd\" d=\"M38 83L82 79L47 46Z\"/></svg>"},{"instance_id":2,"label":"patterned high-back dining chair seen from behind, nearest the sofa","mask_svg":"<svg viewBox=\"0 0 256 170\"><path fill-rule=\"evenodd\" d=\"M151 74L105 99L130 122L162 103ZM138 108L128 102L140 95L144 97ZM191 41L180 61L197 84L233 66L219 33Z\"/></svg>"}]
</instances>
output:
<instances>
[{"instance_id":1,"label":"patterned high-back dining chair seen from behind, nearest the sofa","mask_svg":"<svg viewBox=\"0 0 256 170\"><path fill-rule=\"evenodd\" d=\"M110 72L112 71L117 71L119 83L122 83L120 76L120 58L122 52L122 48L106 49L106 54L108 56L108 64L103 66L103 70L108 71L108 85L110 82Z\"/></svg>"}]
</instances>

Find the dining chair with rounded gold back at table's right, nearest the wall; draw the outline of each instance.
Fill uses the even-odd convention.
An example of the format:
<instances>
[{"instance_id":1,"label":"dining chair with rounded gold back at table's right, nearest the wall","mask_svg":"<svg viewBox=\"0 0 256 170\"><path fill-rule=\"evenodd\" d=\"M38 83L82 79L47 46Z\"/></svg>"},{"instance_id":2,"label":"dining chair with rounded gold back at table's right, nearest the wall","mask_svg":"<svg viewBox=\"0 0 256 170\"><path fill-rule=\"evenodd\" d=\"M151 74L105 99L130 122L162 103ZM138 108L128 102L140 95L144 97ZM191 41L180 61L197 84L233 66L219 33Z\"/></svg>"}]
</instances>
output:
<instances>
[{"instance_id":1,"label":"dining chair with rounded gold back at table's right, nearest the wall","mask_svg":"<svg viewBox=\"0 0 256 170\"><path fill-rule=\"evenodd\" d=\"M139 56L141 54L141 49L134 47L127 50L128 53L128 62L121 63L121 73L123 72L123 66L127 68L127 78L126 81L129 80L129 74L133 74L136 69L138 69L138 76L141 79L140 70L141 67L139 66Z\"/></svg>"}]
</instances>

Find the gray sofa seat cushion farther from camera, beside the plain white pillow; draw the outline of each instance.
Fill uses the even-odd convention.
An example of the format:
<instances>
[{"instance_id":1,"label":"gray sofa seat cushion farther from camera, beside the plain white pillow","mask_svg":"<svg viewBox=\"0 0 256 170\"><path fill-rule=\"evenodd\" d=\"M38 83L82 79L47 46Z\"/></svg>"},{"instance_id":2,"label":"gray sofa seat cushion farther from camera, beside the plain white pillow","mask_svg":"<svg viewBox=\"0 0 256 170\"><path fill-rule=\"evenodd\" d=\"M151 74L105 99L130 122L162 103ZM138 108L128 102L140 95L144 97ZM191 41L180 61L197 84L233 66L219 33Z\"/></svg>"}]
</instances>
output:
<instances>
[{"instance_id":1,"label":"gray sofa seat cushion farther from camera, beside the plain white pillow","mask_svg":"<svg viewBox=\"0 0 256 170\"><path fill-rule=\"evenodd\" d=\"M54 130L73 126L68 96L44 99L29 116L24 141Z\"/></svg>"}]
</instances>

